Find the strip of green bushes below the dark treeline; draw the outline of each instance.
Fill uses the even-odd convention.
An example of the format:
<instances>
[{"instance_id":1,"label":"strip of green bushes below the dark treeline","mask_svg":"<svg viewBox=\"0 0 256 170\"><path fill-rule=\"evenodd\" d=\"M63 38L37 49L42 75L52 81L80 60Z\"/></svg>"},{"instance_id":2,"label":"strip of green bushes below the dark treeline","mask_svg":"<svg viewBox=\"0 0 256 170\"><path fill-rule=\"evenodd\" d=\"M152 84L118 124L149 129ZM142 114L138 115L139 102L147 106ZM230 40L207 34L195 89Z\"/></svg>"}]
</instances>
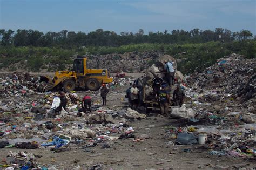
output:
<instances>
[{"instance_id":1,"label":"strip of green bushes below the dark treeline","mask_svg":"<svg viewBox=\"0 0 256 170\"><path fill-rule=\"evenodd\" d=\"M129 44L119 47L112 46L89 46L63 49L60 47L0 47L0 69L16 71L39 72L46 69L47 72L70 69L74 55L87 55L89 59L104 54L117 55L125 52L161 51L176 58L178 70L184 74L195 71L201 72L206 67L215 64L216 60L238 53L246 58L256 58L256 40L233 41L228 43L207 42L207 43L183 43L183 44ZM118 62L118 57L113 58ZM148 60L147 65L151 66L154 60ZM69 66L68 66L69 65ZM111 68L110 68L111 69ZM132 69L132 68L131 68Z\"/></svg>"}]
</instances>

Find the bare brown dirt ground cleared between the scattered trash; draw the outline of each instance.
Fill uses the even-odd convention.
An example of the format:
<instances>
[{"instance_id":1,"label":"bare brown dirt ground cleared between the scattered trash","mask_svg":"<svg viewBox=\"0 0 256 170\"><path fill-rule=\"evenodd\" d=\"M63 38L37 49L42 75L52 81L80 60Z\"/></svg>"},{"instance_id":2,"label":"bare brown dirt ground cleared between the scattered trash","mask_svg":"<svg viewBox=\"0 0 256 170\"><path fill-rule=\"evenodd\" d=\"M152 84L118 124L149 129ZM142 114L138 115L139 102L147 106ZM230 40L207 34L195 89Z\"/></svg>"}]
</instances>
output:
<instances>
[{"instance_id":1,"label":"bare brown dirt ground cleared between the scattered trash","mask_svg":"<svg viewBox=\"0 0 256 170\"><path fill-rule=\"evenodd\" d=\"M140 75L138 75L140 76ZM137 76L136 76L137 77ZM124 98L128 86L117 87L108 94L108 103L104 108L119 110L127 105ZM118 92L118 93L116 93ZM83 97L86 92L78 92ZM36 100L41 96L30 96L28 101ZM11 101L14 98L1 100ZM100 99L97 95L93 100ZM22 100L17 98L17 100ZM142 111L143 112L143 111ZM256 168L256 163L244 159L227 156L213 156L208 154L208 149L202 145L174 145L169 141L165 126L184 127L184 120L159 117L158 111L147 115L146 119L130 120L127 124L133 127L134 135L149 135L150 139L133 142L133 138L109 141L110 148L100 146L91 147L90 152L82 148L83 144L72 145L70 151L53 153L50 148L39 149L1 149L0 158L4 159L9 151L27 151L42 157L36 158L38 165L56 167L58 169L71 169L79 166L82 169L101 165L104 169L227 169L227 168ZM200 123L199 123L200 124ZM203 124L203 123L201 123ZM191 123L190 123L191 125ZM197 123L198 125L198 123ZM169 145L167 145L169 142ZM189 148L190 152L184 152Z\"/></svg>"}]
</instances>

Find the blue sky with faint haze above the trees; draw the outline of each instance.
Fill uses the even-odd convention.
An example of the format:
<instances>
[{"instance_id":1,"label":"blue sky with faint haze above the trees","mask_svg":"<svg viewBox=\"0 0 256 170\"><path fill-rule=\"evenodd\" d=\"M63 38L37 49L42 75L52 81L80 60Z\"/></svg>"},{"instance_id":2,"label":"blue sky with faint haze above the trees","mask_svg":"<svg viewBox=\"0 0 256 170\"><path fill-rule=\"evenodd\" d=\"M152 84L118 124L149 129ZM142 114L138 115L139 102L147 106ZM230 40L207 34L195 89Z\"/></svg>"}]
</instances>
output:
<instances>
[{"instance_id":1,"label":"blue sky with faint haze above the trees","mask_svg":"<svg viewBox=\"0 0 256 170\"><path fill-rule=\"evenodd\" d=\"M194 28L256 35L256 0L0 0L0 29L119 34Z\"/></svg>"}]
</instances>

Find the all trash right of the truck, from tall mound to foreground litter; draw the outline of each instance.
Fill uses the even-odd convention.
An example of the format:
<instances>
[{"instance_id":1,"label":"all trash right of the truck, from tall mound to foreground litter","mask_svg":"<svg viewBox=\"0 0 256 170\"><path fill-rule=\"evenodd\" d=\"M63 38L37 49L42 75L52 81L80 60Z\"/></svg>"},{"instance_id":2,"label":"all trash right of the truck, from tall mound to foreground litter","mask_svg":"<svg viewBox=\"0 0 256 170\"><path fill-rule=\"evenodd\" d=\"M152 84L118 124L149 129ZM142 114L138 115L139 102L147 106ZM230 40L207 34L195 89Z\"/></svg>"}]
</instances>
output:
<instances>
[{"instance_id":1,"label":"all trash right of the truck, from tall mound to foreground litter","mask_svg":"<svg viewBox=\"0 0 256 170\"><path fill-rule=\"evenodd\" d=\"M187 119L190 126L166 127L168 144L197 144L194 136L200 144L200 137L207 137L198 149L255 161L255 64L255 59L232 54L186 77L185 93L191 100L183 109L192 108L196 114Z\"/></svg>"}]
</instances>

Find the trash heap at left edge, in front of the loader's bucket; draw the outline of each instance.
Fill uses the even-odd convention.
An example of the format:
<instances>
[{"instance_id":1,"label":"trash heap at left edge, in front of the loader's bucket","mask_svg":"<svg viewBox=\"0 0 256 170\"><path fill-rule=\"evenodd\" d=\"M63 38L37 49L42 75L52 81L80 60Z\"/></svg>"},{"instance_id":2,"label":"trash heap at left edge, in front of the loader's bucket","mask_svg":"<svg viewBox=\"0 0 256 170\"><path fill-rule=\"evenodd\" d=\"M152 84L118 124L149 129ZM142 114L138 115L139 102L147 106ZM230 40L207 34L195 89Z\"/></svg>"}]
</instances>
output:
<instances>
[{"instance_id":1,"label":"trash heap at left edge, in front of the loader's bucket","mask_svg":"<svg viewBox=\"0 0 256 170\"><path fill-rule=\"evenodd\" d=\"M0 78L0 97L25 96L46 91L45 82L37 77L24 78L23 74L13 74Z\"/></svg>"}]
</instances>

